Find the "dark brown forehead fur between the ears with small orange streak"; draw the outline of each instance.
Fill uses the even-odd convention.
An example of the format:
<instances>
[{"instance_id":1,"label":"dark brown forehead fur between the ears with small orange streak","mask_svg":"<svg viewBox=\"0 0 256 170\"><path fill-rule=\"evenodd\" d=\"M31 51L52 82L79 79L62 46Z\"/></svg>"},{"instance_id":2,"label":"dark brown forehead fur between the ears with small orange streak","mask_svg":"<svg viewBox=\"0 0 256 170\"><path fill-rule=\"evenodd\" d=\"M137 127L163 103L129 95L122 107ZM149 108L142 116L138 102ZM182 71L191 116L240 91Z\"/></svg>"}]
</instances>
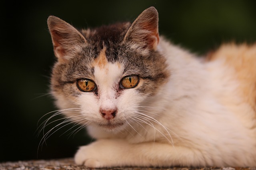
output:
<instances>
[{"instance_id":1,"label":"dark brown forehead fur between the ears with small orange streak","mask_svg":"<svg viewBox=\"0 0 256 170\"><path fill-rule=\"evenodd\" d=\"M96 60L99 65L114 63L120 51L124 52L122 42L130 28L130 22L103 25L94 29L82 29L80 32L86 39L84 55ZM94 61L93 61L94 62Z\"/></svg>"}]
</instances>

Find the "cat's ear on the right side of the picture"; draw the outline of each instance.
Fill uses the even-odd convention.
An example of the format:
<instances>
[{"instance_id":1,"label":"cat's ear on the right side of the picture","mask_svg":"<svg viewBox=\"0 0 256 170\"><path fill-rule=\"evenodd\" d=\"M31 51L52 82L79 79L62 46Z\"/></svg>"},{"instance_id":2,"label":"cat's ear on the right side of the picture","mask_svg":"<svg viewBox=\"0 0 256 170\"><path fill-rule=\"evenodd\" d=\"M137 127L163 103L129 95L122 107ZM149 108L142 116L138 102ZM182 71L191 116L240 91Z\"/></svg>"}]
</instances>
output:
<instances>
[{"instance_id":1,"label":"cat's ear on the right side of the picture","mask_svg":"<svg viewBox=\"0 0 256 170\"><path fill-rule=\"evenodd\" d=\"M158 12L156 8L150 7L136 18L126 33L124 41L134 41L142 48L156 51L159 43Z\"/></svg>"}]
</instances>

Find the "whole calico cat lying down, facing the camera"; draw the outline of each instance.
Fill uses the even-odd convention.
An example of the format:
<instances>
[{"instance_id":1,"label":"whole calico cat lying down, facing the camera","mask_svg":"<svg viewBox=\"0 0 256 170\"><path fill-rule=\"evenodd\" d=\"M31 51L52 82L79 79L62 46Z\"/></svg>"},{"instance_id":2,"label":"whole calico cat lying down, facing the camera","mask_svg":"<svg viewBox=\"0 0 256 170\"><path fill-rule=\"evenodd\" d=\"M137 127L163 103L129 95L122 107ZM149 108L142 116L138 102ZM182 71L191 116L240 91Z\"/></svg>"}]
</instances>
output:
<instances>
[{"instance_id":1,"label":"whole calico cat lying down, facing the camera","mask_svg":"<svg viewBox=\"0 0 256 170\"><path fill-rule=\"evenodd\" d=\"M96 139L77 164L256 166L256 45L198 59L159 36L154 7L133 23L48 27L56 105Z\"/></svg>"}]
</instances>

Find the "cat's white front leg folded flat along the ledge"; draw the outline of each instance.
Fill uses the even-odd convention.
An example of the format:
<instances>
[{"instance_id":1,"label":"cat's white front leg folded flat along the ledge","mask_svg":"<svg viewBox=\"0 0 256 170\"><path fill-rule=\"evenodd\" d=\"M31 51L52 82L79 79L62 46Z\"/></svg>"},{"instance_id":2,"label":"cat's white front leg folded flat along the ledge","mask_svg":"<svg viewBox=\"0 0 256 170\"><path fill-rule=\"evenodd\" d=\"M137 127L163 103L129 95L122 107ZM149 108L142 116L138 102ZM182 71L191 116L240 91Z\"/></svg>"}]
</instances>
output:
<instances>
[{"instance_id":1,"label":"cat's white front leg folded flat along the ledge","mask_svg":"<svg viewBox=\"0 0 256 170\"><path fill-rule=\"evenodd\" d=\"M204 160L196 160L200 156L195 154L191 149L174 147L170 143L130 144L120 139L105 139L80 147L75 162L90 168L173 166L185 163L192 166L205 165Z\"/></svg>"}]
</instances>

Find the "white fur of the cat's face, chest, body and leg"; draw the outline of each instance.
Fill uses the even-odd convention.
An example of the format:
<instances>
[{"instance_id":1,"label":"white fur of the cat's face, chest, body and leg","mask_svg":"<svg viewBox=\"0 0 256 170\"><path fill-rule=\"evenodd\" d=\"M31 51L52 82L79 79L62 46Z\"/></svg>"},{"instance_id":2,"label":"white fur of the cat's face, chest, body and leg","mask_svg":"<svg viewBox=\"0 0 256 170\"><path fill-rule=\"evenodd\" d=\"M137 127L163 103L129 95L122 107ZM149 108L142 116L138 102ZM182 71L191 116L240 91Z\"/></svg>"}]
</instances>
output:
<instances>
[{"instance_id":1,"label":"white fur of the cat's face, chest, body and leg","mask_svg":"<svg viewBox=\"0 0 256 170\"><path fill-rule=\"evenodd\" d=\"M95 68L101 97L85 93L82 114L94 121L89 134L98 139L81 147L77 164L112 166L256 166L256 129L252 108L240 100L234 70L221 60L202 63L186 51L160 39L170 80L152 98L126 89L115 98L123 68L108 63ZM116 129L97 123L106 120L100 108L118 108ZM144 115L136 113L139 111ZM133 120L136 119L138 122Z\"/></svg>"}]
</instances>

